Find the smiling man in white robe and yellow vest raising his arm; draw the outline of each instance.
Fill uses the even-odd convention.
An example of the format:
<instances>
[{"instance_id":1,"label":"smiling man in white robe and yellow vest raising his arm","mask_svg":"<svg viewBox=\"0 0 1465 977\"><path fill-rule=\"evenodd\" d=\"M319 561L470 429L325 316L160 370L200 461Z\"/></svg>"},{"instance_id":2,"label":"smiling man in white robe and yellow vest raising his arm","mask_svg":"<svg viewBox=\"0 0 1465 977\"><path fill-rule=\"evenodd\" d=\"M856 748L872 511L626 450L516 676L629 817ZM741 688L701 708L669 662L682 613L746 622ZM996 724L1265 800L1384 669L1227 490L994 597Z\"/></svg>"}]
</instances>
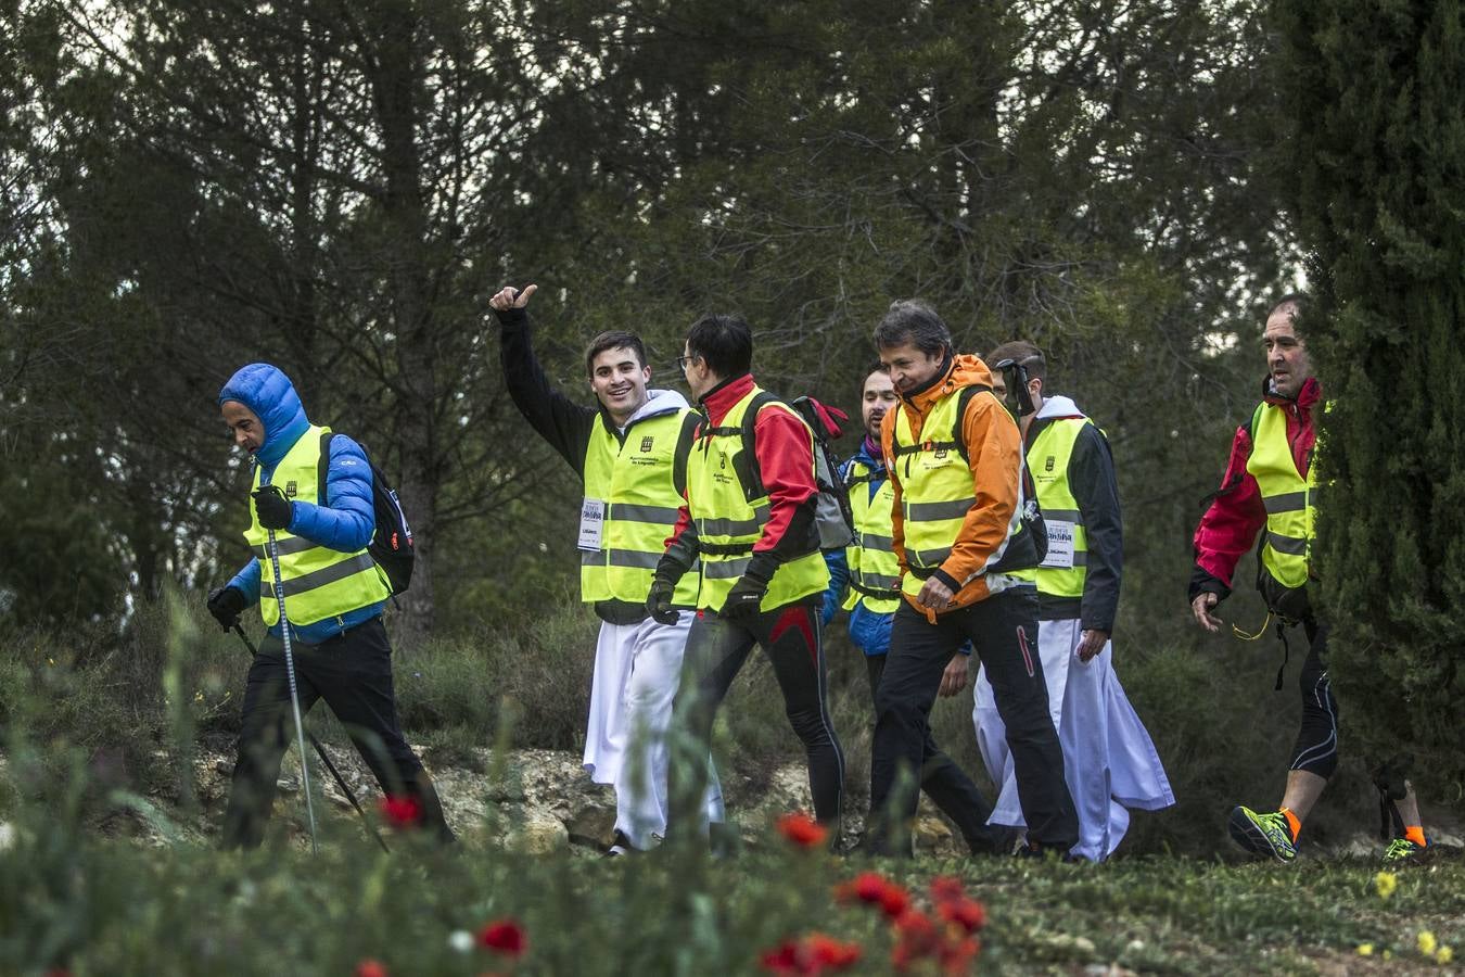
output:
<instances>
[{"instance_id":1,"label":"smiling man in white robe and yellow vest raising his arm","mask_svg":"<svg viewBox=\"0 0 1465 977\"><path fill-rule=\"evenodd\" d=\"M672 390L649 390L650 366L634 333L601 333L585 353L598 404L555 390L535 357L529 299L504 289L489 305L502 327L504 382L529 425L585 483L580 505L580 599L595 606L595 647L585 769L615 787L615 839L607 854L643 851L665 835L667 727L696 605L696 579L675 589L652 618L646 596L681 504L683 461L697 415ZM703 794L722 820L715 772Z\"/></svg>"}]
</instances>

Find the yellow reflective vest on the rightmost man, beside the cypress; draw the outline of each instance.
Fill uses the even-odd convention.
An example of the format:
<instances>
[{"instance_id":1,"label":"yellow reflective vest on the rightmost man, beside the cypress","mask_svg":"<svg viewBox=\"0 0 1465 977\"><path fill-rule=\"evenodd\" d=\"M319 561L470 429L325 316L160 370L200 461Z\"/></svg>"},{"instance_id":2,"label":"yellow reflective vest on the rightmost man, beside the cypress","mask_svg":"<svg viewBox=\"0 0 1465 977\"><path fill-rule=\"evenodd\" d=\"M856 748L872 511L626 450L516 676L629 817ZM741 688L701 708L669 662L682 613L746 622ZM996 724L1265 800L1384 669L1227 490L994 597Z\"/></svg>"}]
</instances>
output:
<instances>
[{"instance_id":1,"label":"yellow reflective vest on the rightmost man, beside the cypress","mask_svg":"<svg viewBox=\"0 0 1465 977\"><path fill-rule=\"evenodd\" d=\"M1317 504L1316 466L1307 478L1297 470L1286 437L1286 410L1263 404L1251 429L1247 472L1257 480L1267 510L1267 535L1261 565L1283 587L1302 587L1308 576L1308 549Z\"/></svg>"}]
</instances>

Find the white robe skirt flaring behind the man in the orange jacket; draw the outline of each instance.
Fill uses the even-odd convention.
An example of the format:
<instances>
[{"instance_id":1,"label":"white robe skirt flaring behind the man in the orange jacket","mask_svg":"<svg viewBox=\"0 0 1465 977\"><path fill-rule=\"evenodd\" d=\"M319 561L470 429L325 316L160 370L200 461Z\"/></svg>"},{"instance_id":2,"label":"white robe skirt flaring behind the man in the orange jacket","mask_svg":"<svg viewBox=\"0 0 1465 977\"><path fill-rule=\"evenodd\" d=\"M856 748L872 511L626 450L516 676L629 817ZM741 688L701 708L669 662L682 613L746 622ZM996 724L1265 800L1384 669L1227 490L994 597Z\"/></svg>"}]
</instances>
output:
<instances>
[{"instance_id":1,"label":"white robe skirt flaring behind the man in the orange jacket","mask_svg":"<svg viewBox=\"0 0 1465 977\"><path fill-rule=\"evenodd\" d=\"M1064 744L1064 779L1078 809L1078 844L1071 854L1103 861L1130 829L1130 810L1159 810L1175 803L1160 754L1113 671L1113 646L1088 662L1077 656L1078 621L1039 621L1037 647L1047 683L1053 727ZM977 674L971 718L977 747L998 800L990 825L1026 828L1017 797L1006 728L992 697L986 671Z\"/></svg>"}]
</instances>

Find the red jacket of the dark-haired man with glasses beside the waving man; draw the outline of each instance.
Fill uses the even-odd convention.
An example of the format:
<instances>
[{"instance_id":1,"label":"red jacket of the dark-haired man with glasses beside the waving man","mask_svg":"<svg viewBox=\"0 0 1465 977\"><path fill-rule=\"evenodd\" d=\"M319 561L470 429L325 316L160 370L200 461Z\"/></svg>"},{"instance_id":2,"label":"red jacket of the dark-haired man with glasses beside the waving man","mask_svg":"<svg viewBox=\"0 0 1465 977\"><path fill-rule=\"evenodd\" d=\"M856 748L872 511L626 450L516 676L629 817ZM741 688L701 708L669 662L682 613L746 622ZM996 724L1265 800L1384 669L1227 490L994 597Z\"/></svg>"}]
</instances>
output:
<instances>
[{"instance_id":1,"label":"red jacket of the dark-haired man with glasses beside the waving man","mask_svg":"<svg viewBox=\"0 0 1465 977\"><path fill-rule=\"evenodd\" d=\"M702 398L708 420L713 428L722 423L737 401L753 393L753 375L744 374L713 388ZM700 428L697 429L700 435ZM753 552L765 552L778 546L800 505L819 494L815 483L815 458L810 447L809 428L787 410L763 410L753 423L753 454L768 489L768 524L762 538L753 543ZM691 521L687 504L683 502L668 545L675 542Z\"/></svg>"}]
</instances>

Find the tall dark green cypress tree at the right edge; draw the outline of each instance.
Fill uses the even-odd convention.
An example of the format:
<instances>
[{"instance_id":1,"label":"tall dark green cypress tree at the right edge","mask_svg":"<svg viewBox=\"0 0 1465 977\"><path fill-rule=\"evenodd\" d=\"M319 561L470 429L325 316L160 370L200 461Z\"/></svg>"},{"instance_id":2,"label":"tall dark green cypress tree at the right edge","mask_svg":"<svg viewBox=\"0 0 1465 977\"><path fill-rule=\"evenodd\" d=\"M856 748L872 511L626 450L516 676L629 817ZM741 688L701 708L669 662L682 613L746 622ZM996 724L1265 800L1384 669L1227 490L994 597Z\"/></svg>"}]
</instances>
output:
<instances>
[{"instance_id":1,"label":"tall dark green cypress tree at the right edge","mask_svg":"<svg viewBox=\"0 0 1465 977\"><path fill-rule=\"evenodd\" d=\"M1381 760L1465 790L1465 13L1280 4L1292 192L1317 280L1304 330L1332 409L1317 568L1332 674Z\"/></svg>"}]
</instances>

